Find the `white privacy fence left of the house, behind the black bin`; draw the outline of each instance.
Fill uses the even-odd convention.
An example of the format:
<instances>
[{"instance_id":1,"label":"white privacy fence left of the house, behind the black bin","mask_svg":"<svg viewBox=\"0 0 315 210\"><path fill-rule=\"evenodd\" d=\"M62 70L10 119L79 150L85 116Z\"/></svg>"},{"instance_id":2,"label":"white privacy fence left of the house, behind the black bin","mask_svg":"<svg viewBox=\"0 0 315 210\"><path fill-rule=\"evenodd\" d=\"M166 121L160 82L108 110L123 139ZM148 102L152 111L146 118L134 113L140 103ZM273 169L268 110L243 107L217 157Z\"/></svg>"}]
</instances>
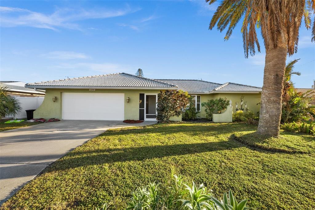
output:
<instances>
[{"instance_id":1,"label":"white privacy fence left of the house, behind the black bin","mask_svg":"<svg viewBox=\"0 0 315 210\"><path fill-rule=\"evenodd\" d=\"M19 100L20 105L22 107L21 111L15 115L8 115L6 117L13 117L14 119L22 119L26 118L26 111L28 109L37 109L44 100L44 96L37 96L37 97L16 97Z\"/></svg>"}]
</instances>

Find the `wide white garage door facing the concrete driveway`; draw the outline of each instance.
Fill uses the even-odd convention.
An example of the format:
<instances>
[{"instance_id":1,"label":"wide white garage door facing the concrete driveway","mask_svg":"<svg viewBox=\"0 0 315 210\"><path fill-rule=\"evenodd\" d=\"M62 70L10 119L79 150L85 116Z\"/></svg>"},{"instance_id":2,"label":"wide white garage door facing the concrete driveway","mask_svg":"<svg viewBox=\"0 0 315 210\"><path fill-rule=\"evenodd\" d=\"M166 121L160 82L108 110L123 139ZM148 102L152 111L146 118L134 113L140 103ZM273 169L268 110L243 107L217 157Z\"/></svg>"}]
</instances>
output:
<instances>
[{"instance_id":1,"label":"wide white garage door facing the concrete driveway","mask_svg":"<svg viewBox=\"0 0 315 210\"><path fill-rule=\"evenodd\" d=\"M63 93L64 120L124 120L123 93Z\"/></svg>"}]
</instances>

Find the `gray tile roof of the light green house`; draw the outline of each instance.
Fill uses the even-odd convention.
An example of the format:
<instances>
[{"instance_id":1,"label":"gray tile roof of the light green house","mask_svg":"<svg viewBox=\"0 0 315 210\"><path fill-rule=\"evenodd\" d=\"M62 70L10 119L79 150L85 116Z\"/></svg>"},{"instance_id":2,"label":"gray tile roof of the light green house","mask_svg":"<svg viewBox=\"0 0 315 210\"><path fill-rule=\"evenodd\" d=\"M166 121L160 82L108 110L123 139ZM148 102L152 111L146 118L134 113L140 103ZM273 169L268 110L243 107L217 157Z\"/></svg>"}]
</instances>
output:
<instances>
[{"instance_id":1,"label":"gray tile roof of the light green house","mask_svg":"<svg viewBox=\"0 0 315 210\"><path fill-rule=\"evenodd\" d=\"M213 83L196 79L148 79L127 73L103 74L71 79L59 79L28 83L25 87L36 88L149 88L180 89L189 93L208 93L211 91L261 91L260 87L236 83Z\"/></svg>"}]
</instances>

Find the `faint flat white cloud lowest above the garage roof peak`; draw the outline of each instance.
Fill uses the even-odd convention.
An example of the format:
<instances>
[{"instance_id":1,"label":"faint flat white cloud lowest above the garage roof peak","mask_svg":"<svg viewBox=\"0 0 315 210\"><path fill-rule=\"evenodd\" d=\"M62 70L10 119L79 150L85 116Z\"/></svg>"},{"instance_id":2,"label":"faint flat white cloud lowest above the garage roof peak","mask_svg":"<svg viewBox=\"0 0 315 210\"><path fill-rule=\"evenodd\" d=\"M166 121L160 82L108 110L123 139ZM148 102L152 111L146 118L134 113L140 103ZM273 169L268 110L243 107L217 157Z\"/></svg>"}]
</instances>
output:
<instances>
[{"instance_id":1,"label":"faint flat white cloud lowest above the garage roof peak","mask_svg":"<svg viewBox=\"0 0 315 210\"><path fill-rule=\"evenodd\" d=\"M60 63L54 68L60 69L75 69L85 71L97 71L102 73L117 73L117 72L130 72L132 69L127 65L114 64L114 63ZM136 71L136 70L133 70Z\"/></svg>"}]
</instances>

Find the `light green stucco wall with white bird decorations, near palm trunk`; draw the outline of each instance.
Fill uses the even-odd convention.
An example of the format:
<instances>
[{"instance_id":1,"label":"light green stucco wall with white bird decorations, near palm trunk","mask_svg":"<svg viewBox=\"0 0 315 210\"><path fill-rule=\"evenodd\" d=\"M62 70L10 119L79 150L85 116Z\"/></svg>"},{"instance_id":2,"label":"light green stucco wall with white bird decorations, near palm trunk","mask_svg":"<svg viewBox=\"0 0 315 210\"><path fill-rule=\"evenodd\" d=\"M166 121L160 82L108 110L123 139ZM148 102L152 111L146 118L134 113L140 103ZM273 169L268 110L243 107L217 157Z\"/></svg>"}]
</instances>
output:
<instances>
[{"instance_id":1,"label":"light green stucco wall with white bird decorations, near palm trunk","mask_svg":"<svg viewBox=\"0 0 315 210\"><path fill-rule=\"evenodd\" d=\"M235 112L235 102L238 101L238 108L241 107L241 96L244 96L244 102L247 101L247 107L249 110L253 111L255 114L259 111L260 105L256 105L261 101L261 94L260 93L216 93L216 94L200 94L200 100L202 102L207 102L211 99L216 98L226 98L227 100L232 100L233 112ZM245 109L245 104L243 104L243 108ZM201 112L198 114L199 117L205 118L206 112L205 108L201 107Z\"/></svg>"}]
</instances>

